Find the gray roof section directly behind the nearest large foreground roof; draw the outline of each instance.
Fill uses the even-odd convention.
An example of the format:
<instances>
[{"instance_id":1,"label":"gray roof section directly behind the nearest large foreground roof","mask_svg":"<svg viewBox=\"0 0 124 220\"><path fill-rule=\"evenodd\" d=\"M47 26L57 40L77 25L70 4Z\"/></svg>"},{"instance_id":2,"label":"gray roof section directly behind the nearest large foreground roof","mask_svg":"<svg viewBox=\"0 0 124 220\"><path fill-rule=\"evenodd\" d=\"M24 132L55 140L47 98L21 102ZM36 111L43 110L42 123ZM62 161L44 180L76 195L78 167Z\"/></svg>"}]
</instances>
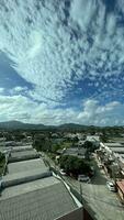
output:
<instances>
[{"instance_id":1,"label":"gray roof section directly behind the nearest large foreground roof","mask_svg":"<svg viewBox=\"0 0 124 220\"><path fill-rule=\"evenodd\" d=\"M3 186L13 186L15 184L26 183L50 176L48 167L43 160L31 160L8 164L8 174L3 176Z\"/></svg>"}]
</instances>

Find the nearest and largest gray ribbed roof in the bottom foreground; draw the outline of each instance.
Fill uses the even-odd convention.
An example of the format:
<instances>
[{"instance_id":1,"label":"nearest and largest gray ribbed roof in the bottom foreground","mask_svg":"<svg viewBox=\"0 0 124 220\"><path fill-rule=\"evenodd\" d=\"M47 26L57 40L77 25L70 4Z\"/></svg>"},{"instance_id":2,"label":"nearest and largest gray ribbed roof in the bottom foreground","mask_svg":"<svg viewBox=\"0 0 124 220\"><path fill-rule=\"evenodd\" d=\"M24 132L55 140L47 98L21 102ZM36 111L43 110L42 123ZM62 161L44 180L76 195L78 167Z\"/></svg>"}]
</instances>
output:
<instances>
[{"instance_id":1,"label":"nearest and largest gray ribbed roof in the bottom foreground","mask_svg":"<svg viewBox=\"0 0 124 220\"><path fill-rule=\"evenodd\" d=\"M0 220L54 220L78 208L60 180L48 177L37 182L4 189Z\"/></svg>"}]
</instances>

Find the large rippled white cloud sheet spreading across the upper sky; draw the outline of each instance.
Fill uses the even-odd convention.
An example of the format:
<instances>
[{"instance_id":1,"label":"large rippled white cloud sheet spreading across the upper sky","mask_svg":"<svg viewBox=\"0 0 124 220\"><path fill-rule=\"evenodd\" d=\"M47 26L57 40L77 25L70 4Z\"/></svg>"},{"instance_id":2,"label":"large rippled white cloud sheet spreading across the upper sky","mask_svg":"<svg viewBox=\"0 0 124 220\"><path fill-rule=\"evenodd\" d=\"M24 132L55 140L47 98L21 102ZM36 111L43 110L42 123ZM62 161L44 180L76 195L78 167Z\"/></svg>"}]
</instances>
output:
<instances>
[{"instance_id":1,"label":"large rippled white cloud sheet spreading across the upper sky","mask_svg":"<svg viewBox=\"0 0 124 220\"><path fill-rule=\"evenodd\" d=\"M18 2L1 4L0 51L15 63L24 79L35 85L34 98L61 101L77 80L92 75L99 81L106 77L108 84L114 69L120 75L124 29L117 26L117 11L108 14L102 1L74 0L66 26L65 1Z\"/></svg>"}]
</instances>

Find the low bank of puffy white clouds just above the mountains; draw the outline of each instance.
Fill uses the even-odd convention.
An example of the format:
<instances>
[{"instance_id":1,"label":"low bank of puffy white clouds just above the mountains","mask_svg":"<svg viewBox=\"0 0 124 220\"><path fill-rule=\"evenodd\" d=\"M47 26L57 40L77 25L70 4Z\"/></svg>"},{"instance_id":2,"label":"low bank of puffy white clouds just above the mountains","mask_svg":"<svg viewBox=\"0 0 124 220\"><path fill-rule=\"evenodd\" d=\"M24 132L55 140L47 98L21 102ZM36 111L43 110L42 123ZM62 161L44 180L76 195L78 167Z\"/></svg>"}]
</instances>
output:
<instances>
[{"instance_id":1,"label":"low bank of puffy white clouds just above the mountains","mask_svg":"<svg viewBox=\"0 0 124 220\"><path fill-rule=\"evenodd\" d=\"M46 103L37 103L24 96L0 96L0 121L21 120L29 123L63 124L80 123L94 125L123 124L124 105L110 102L100 106L99 101L83 101L82 109L52 108ZM117 121L116 121L117 120Z\"/></svg>"}]
</instances>

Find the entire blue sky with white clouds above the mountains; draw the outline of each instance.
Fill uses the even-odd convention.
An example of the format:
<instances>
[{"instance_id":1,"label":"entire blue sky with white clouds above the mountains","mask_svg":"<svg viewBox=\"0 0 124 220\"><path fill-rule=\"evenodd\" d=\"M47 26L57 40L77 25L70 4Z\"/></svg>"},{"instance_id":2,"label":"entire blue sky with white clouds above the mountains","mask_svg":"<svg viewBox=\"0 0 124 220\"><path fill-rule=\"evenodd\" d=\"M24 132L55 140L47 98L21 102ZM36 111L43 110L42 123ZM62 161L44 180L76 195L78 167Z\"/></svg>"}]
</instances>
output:
<instances>
[{"instance_id":1,"label":"entire blue sky with white clouds above the mountains","mask_svg":"<svg viewBox=\"0 0 124 220\"><path fill-rule=\"evenodd\" d=\"M0 0L0 121L124 125L124 1Z\"/></svg>"}]
</instances>

